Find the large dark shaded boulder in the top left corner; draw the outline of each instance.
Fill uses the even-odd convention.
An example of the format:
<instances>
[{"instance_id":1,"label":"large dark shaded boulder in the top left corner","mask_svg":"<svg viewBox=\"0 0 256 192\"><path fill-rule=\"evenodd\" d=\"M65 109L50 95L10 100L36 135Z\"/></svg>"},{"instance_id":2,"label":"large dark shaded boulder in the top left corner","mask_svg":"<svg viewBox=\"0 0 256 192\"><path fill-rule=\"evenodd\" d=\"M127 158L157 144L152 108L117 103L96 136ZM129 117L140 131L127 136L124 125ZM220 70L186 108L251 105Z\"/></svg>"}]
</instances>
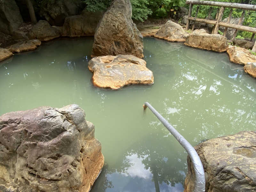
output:
<instances>
[{"instance_id":1,"label":"large dark shaded boulder in the top left corner","mask_svg":"<svg viewBox=\"0 0 256 192\"><path fill-rule=\"evenodd\" d=\"M0 0L0 31L11 35L22 22L15 0Z\"/></svg>"}]
</instances>

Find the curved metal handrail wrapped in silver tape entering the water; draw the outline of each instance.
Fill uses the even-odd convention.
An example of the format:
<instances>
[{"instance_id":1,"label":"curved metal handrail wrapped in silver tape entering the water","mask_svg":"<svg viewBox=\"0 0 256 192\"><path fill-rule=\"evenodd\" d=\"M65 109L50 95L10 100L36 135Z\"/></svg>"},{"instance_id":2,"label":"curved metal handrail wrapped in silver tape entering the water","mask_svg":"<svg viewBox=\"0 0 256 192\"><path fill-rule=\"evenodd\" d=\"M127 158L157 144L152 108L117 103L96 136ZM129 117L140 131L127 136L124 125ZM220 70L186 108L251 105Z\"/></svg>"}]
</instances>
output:
<instances>
[{"instance_id":1,"label":"curved metal handrail wrapped in silver tape entering the water","mask_svg":"<svg viewBox=\"0 0 256 192\"><path fill-rule=\"evenodd\" d=\"M161 123L172 133L180 145L187 151L195 171L195 189L194 192L204 192L205 191L205 178L204 178L204 167L203 164L196 153L195 148L190 145L190 143L171 125L168 121L160 115L148 102L145 102L143 108L149 108L154 115L161 121Z\"/></svg>"}]
</instances>

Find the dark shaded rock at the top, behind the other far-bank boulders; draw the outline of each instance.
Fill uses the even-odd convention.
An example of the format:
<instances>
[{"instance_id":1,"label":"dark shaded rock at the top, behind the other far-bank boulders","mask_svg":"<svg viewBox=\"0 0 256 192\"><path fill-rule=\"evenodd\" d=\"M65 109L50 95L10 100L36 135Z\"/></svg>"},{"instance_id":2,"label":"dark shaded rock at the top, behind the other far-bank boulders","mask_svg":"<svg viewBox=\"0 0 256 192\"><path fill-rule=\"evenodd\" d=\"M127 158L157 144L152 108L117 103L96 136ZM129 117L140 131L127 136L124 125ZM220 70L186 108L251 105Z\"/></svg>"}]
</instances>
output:
<instances>
[{"instance_id":1,"label":"dark shaded rock at the top, behind the other far-bank boulders","mask_svg":"<svg viewBox=\"0 0 256 192\"><path fill-rule=\"evenodd\" d=\"M68 16L80 14L85 7L82 0L51 0L40 6L40 16L51 25L62 26Z\"/></svg>"}]
</instances>

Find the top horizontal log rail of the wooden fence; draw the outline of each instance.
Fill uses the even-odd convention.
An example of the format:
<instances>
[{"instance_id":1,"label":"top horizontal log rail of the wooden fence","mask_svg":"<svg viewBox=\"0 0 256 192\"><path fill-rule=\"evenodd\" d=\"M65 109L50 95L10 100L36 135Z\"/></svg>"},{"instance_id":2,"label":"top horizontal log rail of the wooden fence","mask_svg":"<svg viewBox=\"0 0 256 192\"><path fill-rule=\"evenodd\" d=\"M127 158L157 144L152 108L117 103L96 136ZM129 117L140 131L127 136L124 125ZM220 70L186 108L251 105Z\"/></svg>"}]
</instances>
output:
<instances>
[{"instance_id":1,"label":"top horizontal log rail of the wooden fence","mask_svg":"<svg viewBox=\"0 0 256 192\"><path fill-rule=\"evenodd\" d=\"M217 6L217 7L228 7L228 8L256 11L256 5L239 4L239 3L224 3L224 2L214 2L214 1L187 0L186 4L210 5L210 6Z\"/></svg>"}]
</instances>

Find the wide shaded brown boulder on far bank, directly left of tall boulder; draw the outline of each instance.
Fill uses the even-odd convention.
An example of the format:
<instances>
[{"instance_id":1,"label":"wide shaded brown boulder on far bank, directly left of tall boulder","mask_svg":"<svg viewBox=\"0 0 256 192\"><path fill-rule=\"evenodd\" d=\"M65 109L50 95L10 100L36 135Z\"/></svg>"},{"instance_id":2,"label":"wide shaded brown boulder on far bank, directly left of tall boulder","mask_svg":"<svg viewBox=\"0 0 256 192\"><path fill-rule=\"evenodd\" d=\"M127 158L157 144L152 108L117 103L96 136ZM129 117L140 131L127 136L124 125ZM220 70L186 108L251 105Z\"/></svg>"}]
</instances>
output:
<instances>
[{"instance_id":1,"label":"wide shaded brown boulder on far bank, directly left of tall boulder","mask_svg":"<svg viewBox=\"0 0 256 192\"><path fill-rule=\"evenodd\" d=\"M102 18L102 12L83 12L82 15L66 17L63 35L69 37L94 36L95 29Z\"/></svg>"}]
</instances>

